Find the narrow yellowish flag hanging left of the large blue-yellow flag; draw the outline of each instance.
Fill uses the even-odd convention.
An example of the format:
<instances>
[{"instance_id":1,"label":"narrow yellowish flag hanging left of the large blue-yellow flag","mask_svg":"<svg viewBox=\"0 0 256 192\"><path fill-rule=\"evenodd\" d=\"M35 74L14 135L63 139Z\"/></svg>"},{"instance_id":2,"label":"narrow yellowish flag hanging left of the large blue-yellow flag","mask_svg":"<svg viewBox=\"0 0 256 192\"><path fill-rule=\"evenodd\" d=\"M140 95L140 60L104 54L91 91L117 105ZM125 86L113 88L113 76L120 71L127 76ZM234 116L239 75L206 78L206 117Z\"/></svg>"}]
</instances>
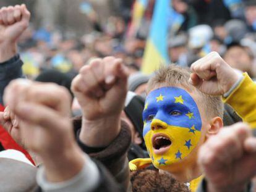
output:
<instances>
[{"instance_id":1,"label":"narrow yellowish flag hanging left of the large blue-yellow flag","mask_svg":"<svg viewBox=\"0 0 256 192\"><path fill-rule=\"evenodd\" d=\"M132 23L130 25L129 36L135 35L139 30L140 23L142 21L145 9L147 9L148 0L137 0L134 4L134 10L132 14Z\"/></svg>"}]
</instances>

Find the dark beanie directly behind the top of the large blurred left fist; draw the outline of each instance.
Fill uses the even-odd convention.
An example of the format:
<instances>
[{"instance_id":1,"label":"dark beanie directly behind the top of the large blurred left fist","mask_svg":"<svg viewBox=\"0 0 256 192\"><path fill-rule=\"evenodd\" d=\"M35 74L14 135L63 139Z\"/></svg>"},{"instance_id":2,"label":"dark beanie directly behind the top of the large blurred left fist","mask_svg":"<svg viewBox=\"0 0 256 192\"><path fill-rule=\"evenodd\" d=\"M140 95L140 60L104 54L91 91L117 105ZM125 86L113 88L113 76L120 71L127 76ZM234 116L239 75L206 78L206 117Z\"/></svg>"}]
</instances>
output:
<instances>
[{"instance_id":1,"label":"dark beanie directly behind the top of the large blurred left fist","mask_svg":"<svg viewBox=\"0 0 256 192\"><path fill-rule=\"evenodd\" d=\"M74 98L74 94L71 91L72 78L70 78L66 73L62 73L54 69L44 70L38 75L38 77L35 78L35 81L56 83L64 86L67 88L67 90L69 90L72 98Z\"/></svg>"}]
</instances>

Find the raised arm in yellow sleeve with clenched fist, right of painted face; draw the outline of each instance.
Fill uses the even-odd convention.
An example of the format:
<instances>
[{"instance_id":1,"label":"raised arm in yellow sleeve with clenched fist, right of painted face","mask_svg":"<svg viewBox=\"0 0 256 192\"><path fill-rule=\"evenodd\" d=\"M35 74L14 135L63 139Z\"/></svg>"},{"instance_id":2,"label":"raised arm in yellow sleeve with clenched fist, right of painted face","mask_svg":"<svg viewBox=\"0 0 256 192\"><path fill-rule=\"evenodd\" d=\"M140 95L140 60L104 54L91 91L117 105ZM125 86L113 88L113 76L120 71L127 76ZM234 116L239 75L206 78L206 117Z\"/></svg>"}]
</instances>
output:
<instances>
[{"instance_id":1,"label":"raised arm in yellow sleeve with clenched fist, right of painted face","mask_svg":"<svg viewBox=\"0 0 256 192\"><path fill-rule=\"evenodd\" d=\"M247 73L238 74L217 52L191 65L190 83L206 94L221 95L244 122L256 128L256 84Z\"/></svg>"}]
</instances>

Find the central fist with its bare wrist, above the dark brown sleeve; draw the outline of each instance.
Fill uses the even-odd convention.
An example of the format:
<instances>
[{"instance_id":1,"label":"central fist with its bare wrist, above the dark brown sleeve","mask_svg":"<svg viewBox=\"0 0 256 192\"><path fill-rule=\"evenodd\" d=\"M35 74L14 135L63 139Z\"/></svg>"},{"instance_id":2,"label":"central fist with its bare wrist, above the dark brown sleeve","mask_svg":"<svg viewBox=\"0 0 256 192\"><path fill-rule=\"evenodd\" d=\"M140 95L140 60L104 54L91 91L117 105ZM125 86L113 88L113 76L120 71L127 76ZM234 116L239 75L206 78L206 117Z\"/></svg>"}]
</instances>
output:
<instances>
[{"instance_id":1,"label":"central fist with its bare wrist, above the dark brown sleeve","mask_svg":"<svg viewBox=\"0 0 256 192\"><path fill-rule=\"evenodd\" d=\"M120 115L127 93L126 67L121 59L93 59L72 81L82 107L80 140L89 146L107 146L121 128Z\"/></svg>"}]
</instances>

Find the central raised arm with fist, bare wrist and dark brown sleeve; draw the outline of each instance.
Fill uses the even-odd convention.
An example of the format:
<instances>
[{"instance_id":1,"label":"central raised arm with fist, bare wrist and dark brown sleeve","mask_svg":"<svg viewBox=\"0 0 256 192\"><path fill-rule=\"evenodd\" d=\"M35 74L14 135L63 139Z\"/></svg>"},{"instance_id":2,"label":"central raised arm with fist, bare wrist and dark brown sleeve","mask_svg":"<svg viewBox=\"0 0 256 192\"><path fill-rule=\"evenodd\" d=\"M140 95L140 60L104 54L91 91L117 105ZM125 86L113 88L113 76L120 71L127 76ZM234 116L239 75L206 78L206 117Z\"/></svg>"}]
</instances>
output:
<instances>
[{"instance_id":1,"label":"central raised arm with fist, bare wrist and dark brown sleeve","mask_svg":"<svg viewBox=\"0 0 256 192\"><path fill-rule=\"evenodd\" d=\"M83 113L77 132L80 147L101 161L127 188L130 130L120 117L127 94L126 67L114 57L93 59L73 80L72 91Z\"/></svg>"}]
</instances>

